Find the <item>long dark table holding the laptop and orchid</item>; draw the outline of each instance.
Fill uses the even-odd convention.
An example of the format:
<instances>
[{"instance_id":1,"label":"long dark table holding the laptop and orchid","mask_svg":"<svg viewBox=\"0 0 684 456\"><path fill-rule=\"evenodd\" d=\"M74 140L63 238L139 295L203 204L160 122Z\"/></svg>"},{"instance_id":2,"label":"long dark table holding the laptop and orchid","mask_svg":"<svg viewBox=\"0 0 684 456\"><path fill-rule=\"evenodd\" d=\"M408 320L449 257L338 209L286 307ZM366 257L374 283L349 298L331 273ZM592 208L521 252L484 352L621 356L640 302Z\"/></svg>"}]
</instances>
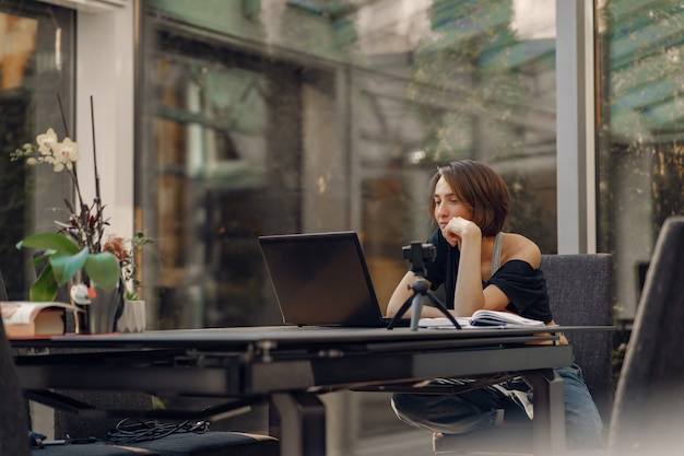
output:
<instances>
[{"instance_id":1,"label":"long dark table holding the laptop and orchid","mask_svg":"<svg viewBox=\"0 0 684 456\"><path fill-rule=\"evenodd\" d=\"M552 455L565 449L563 381L553 369L570 364L573 351L570 346L534 342L555 342L561 331L577 329L587 328L554 327L554 334L538 335L539 328L278 326L66 335L13 340L12 346L24 349L16 366L28 398L82 414L107 411L90 410L54 389L232 399L204 416L268 399L280 417L281 454L288 456L325 456L321 393L390 390L392 385L405 390L434 377L520 374L534 388L534 453Z\"/></svg>"}]
</instances>

